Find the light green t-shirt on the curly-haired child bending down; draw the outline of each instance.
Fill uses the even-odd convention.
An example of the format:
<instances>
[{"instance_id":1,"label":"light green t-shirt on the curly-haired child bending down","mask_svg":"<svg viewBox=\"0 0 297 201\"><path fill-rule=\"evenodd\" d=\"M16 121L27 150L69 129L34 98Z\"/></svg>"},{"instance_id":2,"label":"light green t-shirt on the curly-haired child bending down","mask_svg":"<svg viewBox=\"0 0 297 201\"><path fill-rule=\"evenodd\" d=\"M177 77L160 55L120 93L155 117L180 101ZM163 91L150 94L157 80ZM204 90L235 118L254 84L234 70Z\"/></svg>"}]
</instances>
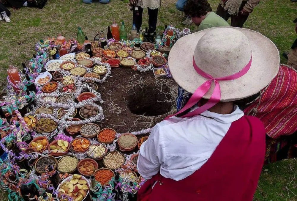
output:
<instances>
[{"instance_id":1,"label":"light green t-shirt on the curly-haired child bending down","mask_svg":"<svg viewBox=\"0 0 297 201\"><path fill-rule=\"evenodd\" d=\"M217 26L230 26L223 18L217 15L215 12L208 12L204 20L198 27L198 31L208 29Z\"/></svg>"}]
</instances>

